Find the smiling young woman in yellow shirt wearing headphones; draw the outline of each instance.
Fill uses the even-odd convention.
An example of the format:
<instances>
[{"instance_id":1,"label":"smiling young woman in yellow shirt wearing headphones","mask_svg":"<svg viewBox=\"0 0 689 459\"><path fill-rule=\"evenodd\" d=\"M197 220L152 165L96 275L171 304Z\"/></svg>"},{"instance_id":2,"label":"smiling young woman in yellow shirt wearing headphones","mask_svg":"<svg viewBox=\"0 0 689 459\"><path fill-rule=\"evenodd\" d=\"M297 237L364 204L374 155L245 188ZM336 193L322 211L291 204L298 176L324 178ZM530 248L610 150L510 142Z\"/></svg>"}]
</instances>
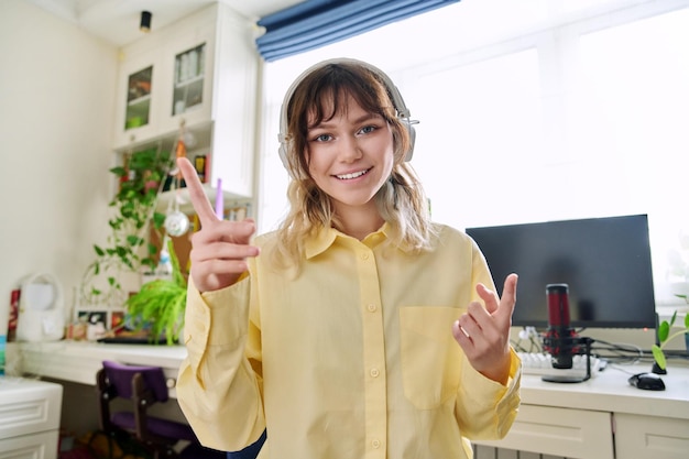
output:
<instances>
[{"instance_id":1,"label":"smiling young woman in yellow shirt wearing headphones","mask_svg":"<svg viewBox=\"0 0 689 459\"><path fill-rule=\"evenodd\" d=\"M179 161L193 236L179 404L206 446L260 458L470 458L520 404L502 299L463 232L429 220L397 89L352 59L302 75L283 106L282 227L219 221Z\"/></svg>"}]
</instances>

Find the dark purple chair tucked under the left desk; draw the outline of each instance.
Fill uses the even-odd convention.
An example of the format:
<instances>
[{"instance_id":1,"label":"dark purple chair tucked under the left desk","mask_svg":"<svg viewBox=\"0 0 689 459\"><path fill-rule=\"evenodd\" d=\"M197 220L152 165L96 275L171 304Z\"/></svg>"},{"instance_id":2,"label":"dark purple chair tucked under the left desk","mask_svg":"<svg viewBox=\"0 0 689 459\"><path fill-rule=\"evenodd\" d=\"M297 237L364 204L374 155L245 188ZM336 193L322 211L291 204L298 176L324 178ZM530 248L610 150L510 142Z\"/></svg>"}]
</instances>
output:
<instances>
[{"instance_id":1,"label":"dark purple chair tucked under the left desk","mask_svg":"<svg viewBox=\"0 0 689 459\"><path fill-rule=\"evenodd\" d=\"M226 453L199 445L187 424L150 416L147 409L169 398L163 369L160 367L125 365L103 361L96 375L100 428L109 435L133 434L154 459L225 459ZM116 398L130 400L130 411L111 412ZM182 451L175 450L178 441L189 442Z\"/></svg>"}]
</instances>

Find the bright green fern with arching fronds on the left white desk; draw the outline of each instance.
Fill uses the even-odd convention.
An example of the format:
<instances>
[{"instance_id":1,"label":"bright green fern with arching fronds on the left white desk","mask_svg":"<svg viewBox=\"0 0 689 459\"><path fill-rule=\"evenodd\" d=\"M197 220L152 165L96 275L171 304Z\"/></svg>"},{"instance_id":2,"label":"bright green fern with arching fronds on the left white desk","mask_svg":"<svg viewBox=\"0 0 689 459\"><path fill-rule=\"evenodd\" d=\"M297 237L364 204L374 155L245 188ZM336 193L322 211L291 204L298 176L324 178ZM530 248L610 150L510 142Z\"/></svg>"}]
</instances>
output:
<instances>
[{"instance_id":1,"label":"bright green fern with arching fronds on the left white desk","mask_svg":"<svg viewBox=\"0 0 689 459\"><path fill-rule=\"evenodd\" d=\"M166 250L161 252L161 258L169 254L172 275L146 282L124 305L135 328L149 329L150 341L157 343L164 338L167 345L174 345L179 341L184 328L187 280L179 269L173 241L169 238L165 238L165 241Z\"/></svg>"}]
</instances>

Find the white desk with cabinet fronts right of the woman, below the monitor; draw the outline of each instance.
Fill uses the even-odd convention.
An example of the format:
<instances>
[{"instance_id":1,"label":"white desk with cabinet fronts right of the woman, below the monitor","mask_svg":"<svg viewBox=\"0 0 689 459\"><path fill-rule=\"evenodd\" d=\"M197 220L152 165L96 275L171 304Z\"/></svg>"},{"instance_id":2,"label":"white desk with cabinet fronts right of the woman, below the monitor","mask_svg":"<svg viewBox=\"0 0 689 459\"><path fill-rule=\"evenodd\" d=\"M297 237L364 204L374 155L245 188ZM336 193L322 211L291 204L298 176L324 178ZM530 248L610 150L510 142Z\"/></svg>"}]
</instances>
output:
<instances>
[{"instance_id":1,"label":"white desk with cabinet fronts right of the woman, below the monitor","mask_svg":"<svg viewBox=\"0 0 689 459\"><path fill-rule=\"evenodd\" d=\"M589 381L572 384L524 375L514 426L503 440L477 442L477 459L513 458L512 450L558 458L686 459L689 369L668 369L663 375L666 391L627 383L628 373L649 369L650 363L609 365Z\"/></svg>"}]
</instances>

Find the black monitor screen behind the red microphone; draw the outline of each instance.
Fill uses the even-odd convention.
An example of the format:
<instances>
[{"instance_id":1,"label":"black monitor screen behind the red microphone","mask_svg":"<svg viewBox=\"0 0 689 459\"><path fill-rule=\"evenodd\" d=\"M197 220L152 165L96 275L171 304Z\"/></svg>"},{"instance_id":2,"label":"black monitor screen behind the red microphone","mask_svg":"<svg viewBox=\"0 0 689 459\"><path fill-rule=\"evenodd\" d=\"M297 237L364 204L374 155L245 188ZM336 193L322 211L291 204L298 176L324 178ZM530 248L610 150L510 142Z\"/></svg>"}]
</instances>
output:
<instances>
[{"instance_id":1,"label":"black monitor screen behind the red microphone","mask_svg":"<svg viewBox=\"0 0 689 459\"><path fill-rule=\"evenodd\" d=\"M502 294L520 275L513 325L548 324L547 284L569 285L572 327L655 328L645 215L468 228Z\"/></svg>"}]
</instances>

